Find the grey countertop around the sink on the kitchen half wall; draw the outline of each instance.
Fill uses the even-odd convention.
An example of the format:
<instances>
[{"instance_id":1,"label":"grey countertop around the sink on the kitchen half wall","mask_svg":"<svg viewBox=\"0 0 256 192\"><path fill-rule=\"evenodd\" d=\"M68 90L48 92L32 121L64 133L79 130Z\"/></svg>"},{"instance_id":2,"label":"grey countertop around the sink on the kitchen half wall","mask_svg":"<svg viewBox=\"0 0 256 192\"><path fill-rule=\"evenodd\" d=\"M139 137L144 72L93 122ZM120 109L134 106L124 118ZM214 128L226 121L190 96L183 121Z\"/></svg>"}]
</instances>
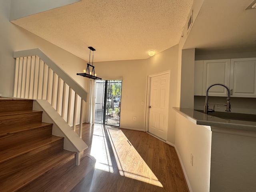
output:
<instances>
[{"instance_id":1,"label":"grey countertop around the sink on the kitchen half wall","mask_svg":"<svg viewBox=\"0 0 256 192\"><path fill-rule=\"evenodd\" d=\"M211 114L204 114L203 112L188 108L173 107L173 109L194 124L211 126L211 128L218 127L256 132L256 115L248 114L250 118L240 117L237 119L232 119L229 117L219 118ZM227 113L228 112L225 112L225 114ZM243 115L246 116L246 114Z\"/></svg>"}]
</instances>

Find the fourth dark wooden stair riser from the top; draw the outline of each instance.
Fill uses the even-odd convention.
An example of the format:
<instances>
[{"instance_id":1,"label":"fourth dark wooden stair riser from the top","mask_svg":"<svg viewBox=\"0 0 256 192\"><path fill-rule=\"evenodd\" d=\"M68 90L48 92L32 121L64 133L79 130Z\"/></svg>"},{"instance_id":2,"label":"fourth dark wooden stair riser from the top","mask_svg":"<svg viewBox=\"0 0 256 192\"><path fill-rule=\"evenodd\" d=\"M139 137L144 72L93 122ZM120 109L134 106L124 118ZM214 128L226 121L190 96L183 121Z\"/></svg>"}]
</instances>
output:
<instances>
[{"instance_id":1,"label":"fourth dark wooden stair riser from the top","mask_svg":"<svg viewBox=\"0 0 256 192\"><path fill-rule=\"evenodd\" d=\"M26 167L29 168L32 164L36 164L36 162L42 159L47 159L49 156L52 156L62 150L63 150L63 139L58 140L56 142L52 142L45 146L41 146L36 150L32 150L31 152L22 154L18 157L13 158L12 160L2 162L0 164L0 167L1 167L0 181L5 180L5 178L7 178L8 176L11 176L12 174L17 173L18 171ZM10 182L13 182L11 178L17 179L17 182L19 180L19 178L16 178L16 176L13 175L9 178Z\"/></svg>"}]
</instances>

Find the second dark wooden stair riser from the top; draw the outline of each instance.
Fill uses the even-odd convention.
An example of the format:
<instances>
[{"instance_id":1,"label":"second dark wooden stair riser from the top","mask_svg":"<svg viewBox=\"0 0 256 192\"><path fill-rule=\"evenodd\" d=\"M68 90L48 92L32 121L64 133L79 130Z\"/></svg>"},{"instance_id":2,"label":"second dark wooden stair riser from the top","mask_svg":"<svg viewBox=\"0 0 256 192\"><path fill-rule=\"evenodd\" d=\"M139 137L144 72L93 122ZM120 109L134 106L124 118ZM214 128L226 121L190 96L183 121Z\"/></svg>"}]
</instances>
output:
<instances>
[{"instance_id":1,"label":"second dark wooden stair riser from the top","mask_svg":"<svg viewBox=\"0 0 256 192\"><path fill-rule=\"evenodd\" d=\"M28 124L42 121L42 111L31 112L28 114L16 114L8 116L0 116L0 128L4 126L17 126L20 124Z\"/></svg>"}]
</instances>

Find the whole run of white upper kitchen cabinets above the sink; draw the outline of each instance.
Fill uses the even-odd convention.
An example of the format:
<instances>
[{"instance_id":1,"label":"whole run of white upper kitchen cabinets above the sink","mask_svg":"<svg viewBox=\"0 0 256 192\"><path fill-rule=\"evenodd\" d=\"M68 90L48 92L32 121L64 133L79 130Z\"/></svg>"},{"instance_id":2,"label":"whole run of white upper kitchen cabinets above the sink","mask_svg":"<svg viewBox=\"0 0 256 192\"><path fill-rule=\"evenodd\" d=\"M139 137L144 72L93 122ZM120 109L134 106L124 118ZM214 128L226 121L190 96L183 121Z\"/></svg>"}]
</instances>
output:
<instances>
[{"instance_id":1,"label":"whole run of white upper kitchen cabinets above the sink","mask_svg":"<svg viewBox=\"0 0 256 192\"><path fill-rule=\"evenodd\" d=\"M195 61L194 95L205 96L214 83L228 86L232 97L256 97L256 58ZM227 91L213 86L209 96L227 96Z\"/></svg>"}]
</instances>

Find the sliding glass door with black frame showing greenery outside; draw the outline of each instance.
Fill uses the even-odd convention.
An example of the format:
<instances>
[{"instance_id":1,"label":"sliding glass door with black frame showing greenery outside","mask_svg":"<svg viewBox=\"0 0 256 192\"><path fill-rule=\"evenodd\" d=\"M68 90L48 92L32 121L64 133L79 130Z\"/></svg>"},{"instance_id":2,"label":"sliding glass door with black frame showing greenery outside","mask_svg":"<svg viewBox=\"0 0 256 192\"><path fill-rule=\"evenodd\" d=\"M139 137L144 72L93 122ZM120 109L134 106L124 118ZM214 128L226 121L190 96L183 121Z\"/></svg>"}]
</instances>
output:
<instances>
[{"instance_id":1,"label":"sliding glass door with black frame showing greenery outside","mask_svg":"<svg viewBox=\"0 0 256 192\"><path fill-rule=\"evenodd\" d=\"M96 80L95 122L120 125L122 80Z\"/></svg>"}]
</instances>

